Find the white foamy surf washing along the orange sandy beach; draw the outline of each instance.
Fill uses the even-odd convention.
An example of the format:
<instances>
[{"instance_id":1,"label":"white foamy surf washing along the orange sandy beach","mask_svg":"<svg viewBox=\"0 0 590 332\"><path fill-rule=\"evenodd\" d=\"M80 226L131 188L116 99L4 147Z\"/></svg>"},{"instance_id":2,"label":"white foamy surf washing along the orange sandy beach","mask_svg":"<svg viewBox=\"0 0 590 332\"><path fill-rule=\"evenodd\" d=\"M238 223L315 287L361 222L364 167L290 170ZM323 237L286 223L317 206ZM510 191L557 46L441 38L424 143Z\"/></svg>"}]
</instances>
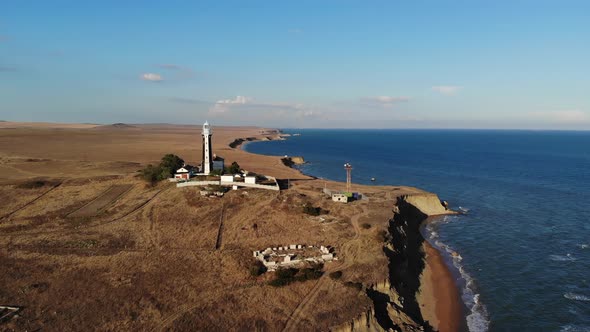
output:
<instances>
[{"instance_id":1,"label":"white foamy surf washing along the orange sandy beach","mask_svg":"<svg viewBox=\"0 0 590 332\"><path fill-rule=\"evenodd\" d=\"M449 220L446 217L441 222L435 222L428 224L425 227L426 234L434 247L438 249L443 255L450 257L453 262L453 266L464 282L464 285L460 285L461 288L461 299L465 306L469 309L467 313L467 327L471 332L486 332L489 330L490 318L486 306L480 300L480 294L477 293L475 280L465 271L465 268L461 264L463 257L442 241L439 240L438 232L434 230L437 224L447 223ZM450 218L449 218L450 219Z\"/></svg>"}]
</instances>

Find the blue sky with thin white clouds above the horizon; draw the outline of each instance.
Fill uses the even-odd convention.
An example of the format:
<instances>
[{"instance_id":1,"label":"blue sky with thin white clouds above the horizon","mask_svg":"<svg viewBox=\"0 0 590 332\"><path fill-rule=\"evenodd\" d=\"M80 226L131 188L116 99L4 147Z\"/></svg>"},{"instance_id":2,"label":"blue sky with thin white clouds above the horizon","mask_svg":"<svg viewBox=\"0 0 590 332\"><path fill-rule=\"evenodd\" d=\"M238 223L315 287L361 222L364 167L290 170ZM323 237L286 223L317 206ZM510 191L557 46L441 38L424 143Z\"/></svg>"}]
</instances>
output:
<instances>
[{"instance_id":1,"label":"blue sky with thin white clouds above the horizon","mask_svg":"<svg viewBox=\"0 0 590 332\"><path fill-rule=\"evenodd\" d=\"M590 130L590 1L3 1L0 120Z\"/></svg>"}]
</instances>

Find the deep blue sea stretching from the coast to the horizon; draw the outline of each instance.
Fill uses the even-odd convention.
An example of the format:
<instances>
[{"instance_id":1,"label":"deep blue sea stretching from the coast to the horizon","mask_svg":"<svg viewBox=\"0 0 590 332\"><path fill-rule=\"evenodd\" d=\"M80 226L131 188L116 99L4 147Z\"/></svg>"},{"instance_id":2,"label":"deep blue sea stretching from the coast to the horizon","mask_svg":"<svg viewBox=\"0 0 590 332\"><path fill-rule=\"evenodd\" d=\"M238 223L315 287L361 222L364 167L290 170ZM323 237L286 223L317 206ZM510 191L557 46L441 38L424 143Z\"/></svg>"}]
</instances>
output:
<instances>
[{"instance_id":1,"label":"deep blue sea stretching from the coast to the horizon","mask_svg":"<svg viewBox=\"0 0 590 332\"><path fill-rule=\"evenodd\" d=\"M304 173L337 181L349 162L354 183L415 186L467 211L423 232L456 275L470 331L590 331L590 132L285 133L301 136L245 149L304 156Z\"/></svg>"}]
</instances>

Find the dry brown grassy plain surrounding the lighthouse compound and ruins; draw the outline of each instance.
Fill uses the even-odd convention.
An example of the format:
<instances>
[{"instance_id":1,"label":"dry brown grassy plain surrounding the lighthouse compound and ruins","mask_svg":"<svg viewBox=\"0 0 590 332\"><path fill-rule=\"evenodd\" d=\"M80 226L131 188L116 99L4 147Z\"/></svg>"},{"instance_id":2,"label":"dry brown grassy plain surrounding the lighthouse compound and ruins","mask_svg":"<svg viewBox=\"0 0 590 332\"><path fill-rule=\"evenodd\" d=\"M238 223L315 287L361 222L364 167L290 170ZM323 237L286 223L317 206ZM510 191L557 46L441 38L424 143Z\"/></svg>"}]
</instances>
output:
<instances>
[{"instance_id":1,"label":"dry brown grassy plain surrounding the lighthouse compound and ruins","mask_svg":"<svg viewBox=\"0 0 590 332\"><path fill-rule=\"evenodd\" d=\"M4 123L0 306L22 309L0 330L328 330L363 312L369 298L347 282L387 278L382 231L396 196L417 190L356 186L368 200L335 203L324 181L279 157L230 148L238 137L260 129L215 127L214 152L293 188L205 198L135 176L166 153L198 164L198 126ZM325 220L304 214L305 203L328 210ZM284 287L268 285L272 273L250 275L253 250L285 244L332 245L339 260ZM338 270L341 279L328 277Z\"/></svg>"}]
</instances>

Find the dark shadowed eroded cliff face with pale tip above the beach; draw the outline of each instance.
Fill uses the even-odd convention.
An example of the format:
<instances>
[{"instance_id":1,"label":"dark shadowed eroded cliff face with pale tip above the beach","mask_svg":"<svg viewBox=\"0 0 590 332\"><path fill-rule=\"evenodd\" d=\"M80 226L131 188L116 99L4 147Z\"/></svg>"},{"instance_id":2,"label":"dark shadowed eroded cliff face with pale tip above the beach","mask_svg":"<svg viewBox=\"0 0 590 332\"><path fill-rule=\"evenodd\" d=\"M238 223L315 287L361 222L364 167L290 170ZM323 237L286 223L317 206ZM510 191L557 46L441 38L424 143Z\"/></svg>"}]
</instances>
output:
<instances>
[{"instance_id":1,"label":"dark shadowed eroded cliff face with pale tip above the beach","mask_svg":"<svg viewBox=\"0 0 590 332\"><path fill-rule=\"evenodd\" d=\"M453 212L431 193L401 196L393 212L383 246L389 260L388 280L367 285L366 294L373 301L372 308L333 331L433 331L424 320L416 298L425 267L420 225L429 216Z\"/></svg>"}]
</instances>

